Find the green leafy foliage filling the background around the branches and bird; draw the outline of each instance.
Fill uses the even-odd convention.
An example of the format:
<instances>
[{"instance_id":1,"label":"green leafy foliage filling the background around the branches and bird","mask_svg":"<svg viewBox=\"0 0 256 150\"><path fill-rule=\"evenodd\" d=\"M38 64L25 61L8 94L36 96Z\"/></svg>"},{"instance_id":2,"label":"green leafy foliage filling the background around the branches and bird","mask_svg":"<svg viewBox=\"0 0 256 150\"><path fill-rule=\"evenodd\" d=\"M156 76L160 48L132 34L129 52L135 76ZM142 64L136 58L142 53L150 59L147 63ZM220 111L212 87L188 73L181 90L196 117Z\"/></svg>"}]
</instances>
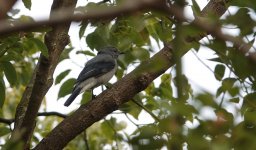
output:
<instances>
[{"instance_id":1,"label":"green leafy foliage filling the background around the branches and bird","mask_svg":"<svg viewBox=\"0 0 256 150\"><path fill-rule=\"evenodd\" d=\"M23 3L27 9L31 9L30 0L23 0ZM87 9L108 7L116 3L121 1L89 2L86 6L77 8L77 11L86 12ZM193 14L199 15L200 7L197 2L192 0L189 3L192 5ZM245 39L252 46L251 52L255 52L255 3L244 0L231 1L229 5L234 6L237 11L227 13L221 20L216 20L216 16L207 19L218 22L223 30L228 30L229 27L237 29L237 37ZM15 15L9 16L10 21L31 19L28 16L15 18ZM209 56L209 61L215 62L212 74L220 87L211 92L193 89L186 75L177 73L178 69L182 70L179 68L182 64L177 65L176 72L162 74L147 89L123 104L117 112L77 136L66 149L87 146L90 149L256 149L255 62L238 52L235 45L210 35L205 41L184 43L187 37L204 32L190 24L178 23L175 17L159 12L139 11L112 20L82 21L79 28L80 31L76 34L86 42L90 50L77 50L71 44L62 53L60 63L64 59L70 60L69 54L73 51L77 51L77 55L94 56L94 50L113 45L125 52L118 60L119 68L115 75L117 79L121 79L127 74L127 69L143 63L163 43L175 39L175 48L179 48L175 49L175 56L189 50L203 51L202 47L215 53L214 56ZM19 32L0 38L1 118L14 118L17 104L32 78L39 53L49 57L43 40L46 30L48 29ZM179 62L179 59L175 61ZM66 68L55 78L55 85L61 85L58 98L68 95L72 90L75 79L68 76L70 72L71 68ZM181 92L182 96L177 96L176 91ZM86 103L91 97L91 93L86 92L81 103ZM47 107L45 103L42 105ZM203 117L205 110L213 112L213 119ZM137 123L145 112L154 121L147 124ZM119 121L120 118L115 113L122 114L127 122ZM59 117L39 117L32 145L35 146L61 121L62 118ZM128 131L130 125L136 129ZM0 123L1 144L8 141L11 129L11 125Z\"/></svg>"}]
</instances>

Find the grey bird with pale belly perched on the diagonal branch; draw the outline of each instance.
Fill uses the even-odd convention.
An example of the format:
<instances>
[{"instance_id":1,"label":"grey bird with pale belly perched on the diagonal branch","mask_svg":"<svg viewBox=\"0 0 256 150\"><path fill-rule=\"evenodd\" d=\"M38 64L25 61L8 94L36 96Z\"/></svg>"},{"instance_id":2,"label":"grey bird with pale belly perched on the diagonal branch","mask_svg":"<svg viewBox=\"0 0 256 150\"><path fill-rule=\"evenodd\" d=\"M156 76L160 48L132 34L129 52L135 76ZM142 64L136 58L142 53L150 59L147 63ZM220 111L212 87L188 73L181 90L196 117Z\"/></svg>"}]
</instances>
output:
<instances>
[{"instance_id":1,"label":"grey bird with pale belly perched on the diagonal branch","mask_svg":"<svg viewBox=\"0 0 256 150\"><path fill-rule=\"evenodd\" d=\"M122 53L115 47L99 50L97 56L85 64L64 106L69 106L80 93L108 82L116 72L117 58L120 54Z\"/></svg>"}]
</instances>

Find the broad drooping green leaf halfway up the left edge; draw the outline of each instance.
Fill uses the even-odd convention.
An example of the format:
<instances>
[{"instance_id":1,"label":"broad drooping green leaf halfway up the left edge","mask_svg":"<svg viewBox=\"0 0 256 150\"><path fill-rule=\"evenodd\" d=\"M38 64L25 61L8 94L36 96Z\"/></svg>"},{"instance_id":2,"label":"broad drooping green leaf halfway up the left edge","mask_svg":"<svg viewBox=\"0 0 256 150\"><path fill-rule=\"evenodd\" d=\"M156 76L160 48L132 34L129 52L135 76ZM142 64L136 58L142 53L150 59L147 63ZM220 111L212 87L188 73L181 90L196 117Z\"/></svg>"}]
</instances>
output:
<instances>
[{"instance_id":1,"label":"broad drooping green leaf halfway up the left edge","mask_svg":"<svg viewBox=\"0 0 256 150\"><path fill-rule=\"evenodd\" d=\"M8 61L1 62L1 65L3 67L4 74L5 74L8 82L10 83L11 86L13 86L17 81L17 74L15 71L15 68Z\"/></svg>"}]
</instances>

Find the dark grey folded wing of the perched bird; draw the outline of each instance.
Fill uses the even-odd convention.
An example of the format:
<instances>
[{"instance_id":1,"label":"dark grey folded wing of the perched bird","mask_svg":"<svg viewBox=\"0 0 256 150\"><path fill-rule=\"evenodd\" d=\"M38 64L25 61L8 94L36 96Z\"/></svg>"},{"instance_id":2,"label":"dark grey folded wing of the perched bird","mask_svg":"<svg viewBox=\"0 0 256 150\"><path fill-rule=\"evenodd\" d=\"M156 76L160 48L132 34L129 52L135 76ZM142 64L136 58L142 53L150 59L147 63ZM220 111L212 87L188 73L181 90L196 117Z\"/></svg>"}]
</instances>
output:
<instances>
[{"instance_id":1,"label":"dark grey folded wing of the perched bird","mask_svg":"<svg viewBox=\"0 0 256 150\"><path fill-rule=\"evenodd\" d=\"M99 61L96 63L86 64L85 68L79 74L76 83L82 82L91 77L99 77L114 68L114 61Z\"/></svg>"}]
</instances>

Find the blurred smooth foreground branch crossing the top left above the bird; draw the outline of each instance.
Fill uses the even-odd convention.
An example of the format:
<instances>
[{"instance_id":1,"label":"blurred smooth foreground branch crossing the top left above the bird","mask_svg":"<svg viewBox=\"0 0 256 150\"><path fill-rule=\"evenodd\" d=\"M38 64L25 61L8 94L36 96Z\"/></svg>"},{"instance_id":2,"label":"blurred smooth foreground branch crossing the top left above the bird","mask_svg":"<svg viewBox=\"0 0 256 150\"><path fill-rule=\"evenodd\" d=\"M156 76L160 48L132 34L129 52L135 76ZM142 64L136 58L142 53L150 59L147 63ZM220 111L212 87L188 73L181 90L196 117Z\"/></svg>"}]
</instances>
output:
<instances>
[{"instance_id":1,"label":"blurred smooth foreground branch crossing the top left above the bird","mask_svg":"<svg viewBox=\"0 0 256 150\"><path fill-rule=\"evenodd\" d=\"M122 14L131 14L143 9L158 9L162 6L164 0L130 0L122 5L108 7L105 9L90 9L86 13L70 14L73 8L61 8L52 12L51 20L41 20L37 22L12 22L6 20L0 22L0 35L6 35L18 31L31 31L33 28L56 25L70 21L108 19L120 16Z\"/></svg>"}]
</instances>

